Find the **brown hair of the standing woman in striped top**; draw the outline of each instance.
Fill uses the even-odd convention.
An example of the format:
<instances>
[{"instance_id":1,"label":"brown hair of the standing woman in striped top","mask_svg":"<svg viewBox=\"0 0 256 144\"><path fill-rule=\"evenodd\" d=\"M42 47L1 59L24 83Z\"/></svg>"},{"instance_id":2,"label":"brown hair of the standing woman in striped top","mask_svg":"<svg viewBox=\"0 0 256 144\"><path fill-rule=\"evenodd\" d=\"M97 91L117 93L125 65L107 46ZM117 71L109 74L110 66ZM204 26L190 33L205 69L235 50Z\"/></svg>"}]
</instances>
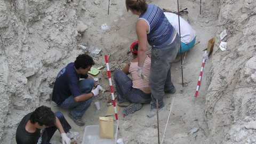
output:
<instances>
[{"instance_id":1,"label":"brown hair of the standing woman in striped top","mask_svg":"<svg viewBox=\"0 0 256 144\"><path fill-rule=\"evenodd\" d=\"M148 4L146 3L145 0L125 0L125 5L127 11L129 11L130 8L132 10L141 12L141 14L145 13L148 8Z\"/></svg>"}]
</instances>

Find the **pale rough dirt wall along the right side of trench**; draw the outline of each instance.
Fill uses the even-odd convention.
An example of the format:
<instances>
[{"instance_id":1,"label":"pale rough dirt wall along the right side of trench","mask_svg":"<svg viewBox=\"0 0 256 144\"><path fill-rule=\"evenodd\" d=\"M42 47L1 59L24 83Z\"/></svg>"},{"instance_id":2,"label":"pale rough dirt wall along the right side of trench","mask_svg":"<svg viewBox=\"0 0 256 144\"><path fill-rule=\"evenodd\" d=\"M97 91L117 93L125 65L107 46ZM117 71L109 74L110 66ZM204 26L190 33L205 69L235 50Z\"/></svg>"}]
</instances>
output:
<instances>
[{"instance_id":1,"label":"pale rough dirt wall along the right side of trench","mask_svg":"<svg viewBox=\"0 0 256 144\"><path fill-rule=\"evenodd\" d=\"M255 2L220 1L205 114L214 143L255 142ZM227 36L219 34L227 30ZM227 42L226 51L219 49ZM221 139L220 139L221 138Z\"/></svg>"}]
</instances>

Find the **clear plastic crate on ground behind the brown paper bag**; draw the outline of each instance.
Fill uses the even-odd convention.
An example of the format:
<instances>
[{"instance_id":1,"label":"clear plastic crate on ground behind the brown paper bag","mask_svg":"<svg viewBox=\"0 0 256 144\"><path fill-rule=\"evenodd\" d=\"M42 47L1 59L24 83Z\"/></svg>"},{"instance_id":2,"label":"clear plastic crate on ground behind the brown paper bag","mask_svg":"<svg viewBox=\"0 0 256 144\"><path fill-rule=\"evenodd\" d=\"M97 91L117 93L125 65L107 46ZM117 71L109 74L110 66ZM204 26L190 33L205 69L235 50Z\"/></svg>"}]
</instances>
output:
<instances>
[{"instance_id":1,"label":"clear plastic crate on ground behind the brown paper bag","mask_svg":"<svg viewBox=\"0 0 256 144\"><path fill-rule=\"evenodd\" d=\"M114 139L100 138L99 125L87 125L84 130L82 144L116 144L118 125L114 124Z\"/></svg>"}]
</instances>

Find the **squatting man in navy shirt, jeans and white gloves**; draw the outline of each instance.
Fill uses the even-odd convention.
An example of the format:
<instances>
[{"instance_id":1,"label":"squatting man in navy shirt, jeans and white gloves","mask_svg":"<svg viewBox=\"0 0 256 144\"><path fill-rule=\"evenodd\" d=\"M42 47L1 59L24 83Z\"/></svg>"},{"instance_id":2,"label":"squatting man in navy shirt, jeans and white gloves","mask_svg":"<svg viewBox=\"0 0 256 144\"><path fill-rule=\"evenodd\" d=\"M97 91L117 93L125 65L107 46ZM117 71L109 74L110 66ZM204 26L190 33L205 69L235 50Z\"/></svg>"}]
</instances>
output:
<instances>
[{"instance_id":1,"label":"squatting man in navy shirt, jeans and white gloves","mask_svg":"<svg viewBox=\"0 0 256 144\"><path fill-rule=\"evenodd\" d=\"M82 116L90 107L92 97L104 90L87 74L93 65L89 55L78 55L75 62L60 70L53 87L52 101L62 108L72 108L68 116L79 126L85 125Z\"/></svg>"}]
</instances>

